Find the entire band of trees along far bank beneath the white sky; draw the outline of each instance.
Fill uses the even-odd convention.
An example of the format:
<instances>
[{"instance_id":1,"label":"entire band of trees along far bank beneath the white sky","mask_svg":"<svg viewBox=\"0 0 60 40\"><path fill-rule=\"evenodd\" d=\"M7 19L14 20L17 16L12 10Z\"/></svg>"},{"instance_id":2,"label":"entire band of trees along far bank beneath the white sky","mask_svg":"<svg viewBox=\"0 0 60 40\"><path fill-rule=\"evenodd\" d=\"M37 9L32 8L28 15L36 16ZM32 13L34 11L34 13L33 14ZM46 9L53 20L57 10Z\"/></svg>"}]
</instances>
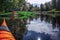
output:
<instances>
[{"instance_id":1,"label":"entire band of trees along far bank beneath the white sky","mask_svg":"<svg viewBox=\"0 0 60 40\"><path fill-rule=\"evenodd\" d=\"M60 0L51 0L40 7L33 6L25 0L0 0L0 11L55 11L60 10Z\"/></svg>"}]
</instances>

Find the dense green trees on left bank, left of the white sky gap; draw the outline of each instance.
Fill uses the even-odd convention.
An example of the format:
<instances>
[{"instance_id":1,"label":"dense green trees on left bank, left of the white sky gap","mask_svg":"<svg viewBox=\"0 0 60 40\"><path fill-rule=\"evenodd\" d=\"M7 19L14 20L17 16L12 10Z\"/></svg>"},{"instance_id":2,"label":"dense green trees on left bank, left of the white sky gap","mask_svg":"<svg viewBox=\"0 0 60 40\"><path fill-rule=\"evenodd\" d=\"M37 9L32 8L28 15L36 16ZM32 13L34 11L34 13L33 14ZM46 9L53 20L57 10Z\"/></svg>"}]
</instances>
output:
<instances>
[{"instance_id":1,"label":"dense green trees on left bank, left of the white sky gap","mask_svg":"<svg viewBox=\"0 0 60 40\"><path fill-rule=\"evenodd\" d=\"M0 11L21 10L25 6L25 0L0 0Z\"/></svg>"}]
</instances>

